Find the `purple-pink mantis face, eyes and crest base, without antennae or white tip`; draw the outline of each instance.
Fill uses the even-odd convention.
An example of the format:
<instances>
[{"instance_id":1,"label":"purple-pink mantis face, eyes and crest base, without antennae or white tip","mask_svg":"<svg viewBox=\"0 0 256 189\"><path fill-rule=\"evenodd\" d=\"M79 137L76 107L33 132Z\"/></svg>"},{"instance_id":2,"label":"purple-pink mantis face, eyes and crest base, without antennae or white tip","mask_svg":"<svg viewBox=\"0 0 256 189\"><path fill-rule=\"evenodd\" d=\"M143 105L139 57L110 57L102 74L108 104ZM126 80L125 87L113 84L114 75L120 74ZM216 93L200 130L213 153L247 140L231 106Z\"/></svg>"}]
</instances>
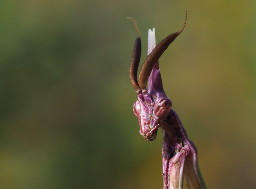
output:
<instances>
[{"instance_id":1,"label":"purple-pink mantis face, eyes and crest base, without antennae or white tip","mask_svg":"<svg viewBox=\"0 0 256 189\"><path fill-rule=\"evenodd\" d=\"M139 119L140 134L146 140L155 140L157 128L164 124L171 107L172 103L163 91L157 62L149 78L148 91L138 95L138 101L133 107L134 114Z\"/></svg>"}]
</instances>

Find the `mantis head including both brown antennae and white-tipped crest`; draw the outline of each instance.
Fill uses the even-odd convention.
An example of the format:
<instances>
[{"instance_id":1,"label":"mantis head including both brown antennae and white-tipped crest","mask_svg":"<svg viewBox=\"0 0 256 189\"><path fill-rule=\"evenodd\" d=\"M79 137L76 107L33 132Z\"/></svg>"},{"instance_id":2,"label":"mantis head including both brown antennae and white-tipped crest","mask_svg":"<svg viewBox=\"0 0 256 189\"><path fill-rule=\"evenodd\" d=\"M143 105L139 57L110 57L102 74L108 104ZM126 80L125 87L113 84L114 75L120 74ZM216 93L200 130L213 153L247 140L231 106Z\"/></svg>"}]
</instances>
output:
<instances>
[{"instance_id":1,"label":"mantis head including both brown antennae and white-tipped crest","mask_svg":"<svg viewBox=\"0 0 256 189\"><path fill-rule=\"evenodd\" d=\"M130 80L138 93L138 100L134 103L133 112L139 119L140 134L144 136L145 140L152 141L156 139L157 129L166 123L166 119L172 108L172 102L163 90L158 59L183 31L186 25L186 18L184 26L180 31L170 34L157 46L155 29L153 28L153 31L150 30L148 32L148 56L142 64L138 80L137 72L141 55L141 38L136 22L132 18L128 19L134 22L138 33L130 64ZM147 80L148 89L146 87Z\"/></svg>"}]
</instances>

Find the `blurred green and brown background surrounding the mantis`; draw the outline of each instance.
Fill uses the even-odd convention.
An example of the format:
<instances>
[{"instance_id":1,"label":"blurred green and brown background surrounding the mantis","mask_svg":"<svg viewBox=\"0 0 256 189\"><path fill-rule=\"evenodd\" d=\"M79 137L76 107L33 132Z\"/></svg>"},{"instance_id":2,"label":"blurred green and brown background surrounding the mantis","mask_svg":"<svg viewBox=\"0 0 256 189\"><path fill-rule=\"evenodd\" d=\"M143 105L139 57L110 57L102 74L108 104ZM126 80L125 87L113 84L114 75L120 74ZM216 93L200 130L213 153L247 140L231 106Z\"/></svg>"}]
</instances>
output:
<instances>
[{"instance_id":1,"label":"blurred green and brown background surrounding the mantis","mask_svg":"<svg viewBox=\"0 0 256 189\"><path fill-rule=\"evenodd\" d=\"M136 30L208 188L255 187L256 2L0 1L0 188L162 188L162 134L139 134Z\"/></svg>"}]
</instances>

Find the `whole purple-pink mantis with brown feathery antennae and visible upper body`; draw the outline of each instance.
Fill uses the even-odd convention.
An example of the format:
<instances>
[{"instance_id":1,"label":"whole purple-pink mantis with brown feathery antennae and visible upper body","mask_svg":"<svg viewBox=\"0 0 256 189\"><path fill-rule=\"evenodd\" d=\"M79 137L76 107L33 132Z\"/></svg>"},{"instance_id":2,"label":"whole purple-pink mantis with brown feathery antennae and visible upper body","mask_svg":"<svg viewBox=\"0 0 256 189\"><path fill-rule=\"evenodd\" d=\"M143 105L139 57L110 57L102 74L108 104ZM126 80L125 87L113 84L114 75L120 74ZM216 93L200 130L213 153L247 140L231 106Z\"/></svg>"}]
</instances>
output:
<instances>
[{"instance_id":1,"label":"whole purple-pink mantis with brown feathery antennae and visible upper body","mask_svg":"<svg viewBox=\"0 0 256 189\"><path fill-rule=\"evenodd\" d=\"M163 132L163 183L164 189L183 188L183 177L189 188L206 188L199 170L197 149L188 139L179 116L172 109L172 102L163 90L158 59L168 46L184 30L187 20L180 31L170 34L156 45L155 29L148 32L148 56L146 57L137 80L141 56L141 38L136 22L138 37L135 40L130 64L130 80L138 93L133 112L138 117L140 134L145 140L156 139L157 130ZM148 80L148 88L147 86Z\"/></svg>"}]
</instances>

